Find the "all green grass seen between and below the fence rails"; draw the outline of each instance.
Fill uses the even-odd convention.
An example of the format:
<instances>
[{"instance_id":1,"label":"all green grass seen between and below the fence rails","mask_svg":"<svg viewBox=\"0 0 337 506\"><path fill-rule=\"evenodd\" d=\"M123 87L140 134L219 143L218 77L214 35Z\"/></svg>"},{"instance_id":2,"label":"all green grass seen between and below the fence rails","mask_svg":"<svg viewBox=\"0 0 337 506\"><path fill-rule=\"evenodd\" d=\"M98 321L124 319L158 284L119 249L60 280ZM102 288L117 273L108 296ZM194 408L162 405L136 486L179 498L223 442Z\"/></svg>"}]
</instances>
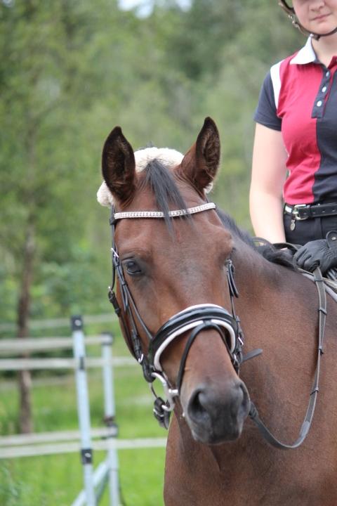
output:
<instances>
[{"instance_id":1,"label":"all green grass seen between and below the fence rails","mask_svg":"<svg viewBox=\"0 0 337 506\"><path fill-rule=\"evenodd\" d=\"M91 349L98 356L99 347ZM114 344L114 355L127 353L125 344ZM46 381L46 384L44 384ZM89 370L88 384L92 427L103 426L103 386L100 370ZM114 390L120 438L164 437L152 415L152 396L140 367L116 368ZM34 432L78 428L74 376L39 375L32 389ZM18 432L18 389L0 386L0 434ZM161 506L164 479L164 448L119 450L121 493L127 506ZM105 458L94 453L94 466ZM78 454L0 460L1 506L68 506L83 487ZM100 502L108 506L107 491Z\"/></svg>"}]
</instances>

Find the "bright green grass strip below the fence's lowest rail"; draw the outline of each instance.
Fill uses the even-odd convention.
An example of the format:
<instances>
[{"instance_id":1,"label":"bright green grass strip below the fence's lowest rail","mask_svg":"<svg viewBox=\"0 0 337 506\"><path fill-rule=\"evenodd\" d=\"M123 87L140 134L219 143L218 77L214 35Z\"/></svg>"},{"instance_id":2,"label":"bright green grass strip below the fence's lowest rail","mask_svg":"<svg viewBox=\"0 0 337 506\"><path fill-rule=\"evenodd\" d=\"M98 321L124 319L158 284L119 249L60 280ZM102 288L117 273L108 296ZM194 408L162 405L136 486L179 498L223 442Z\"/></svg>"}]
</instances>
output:
<instances>
[{"instance_id":1,"label":"bright green grass strip below the fence's lowest rail","mask_svg":"<svg viewBox=\"0 0 337 506\"><path fill-rule=\"evenodd\" d=\"M95 453L100 462L105 453ZM122 498L127 506L161 506L164 449L119 451ZM1 506L70 506L83 486L75 454L0 461ZM100 502L109 505L106 490Z\"/></svg>"}]
</instances>

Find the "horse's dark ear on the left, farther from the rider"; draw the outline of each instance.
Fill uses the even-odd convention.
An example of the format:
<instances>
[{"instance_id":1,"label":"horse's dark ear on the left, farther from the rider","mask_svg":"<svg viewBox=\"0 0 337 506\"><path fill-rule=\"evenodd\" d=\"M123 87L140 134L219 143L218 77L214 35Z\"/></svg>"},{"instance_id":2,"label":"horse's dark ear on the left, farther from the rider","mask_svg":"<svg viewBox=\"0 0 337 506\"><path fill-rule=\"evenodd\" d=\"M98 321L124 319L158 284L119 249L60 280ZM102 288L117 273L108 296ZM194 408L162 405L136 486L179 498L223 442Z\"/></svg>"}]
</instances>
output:
<instances>
[{"instance_id":1,"label":"horse's dark ear on the left, farther from the rider","mask_svg":"<svg viewBox=\"0 0 337 506\"><path fill-rule=\"evenodd\" d=\"M135 190L135 168L133 149L120 126L115 126L103 146L102 171L107 188L121 202L128 200Z\"/></svg>"}]
</instances>

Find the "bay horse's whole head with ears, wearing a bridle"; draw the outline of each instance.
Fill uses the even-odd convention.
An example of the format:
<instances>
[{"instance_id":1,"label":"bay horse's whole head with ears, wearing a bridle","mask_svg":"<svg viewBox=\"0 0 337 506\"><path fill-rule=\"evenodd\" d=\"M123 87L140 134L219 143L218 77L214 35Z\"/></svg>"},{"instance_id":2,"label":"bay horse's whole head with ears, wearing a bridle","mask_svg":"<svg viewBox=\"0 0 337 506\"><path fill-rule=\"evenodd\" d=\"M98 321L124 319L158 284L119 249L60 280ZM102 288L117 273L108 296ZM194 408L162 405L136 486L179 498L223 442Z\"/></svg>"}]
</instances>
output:
<instances>
[{"instance_id":1,"label":"bay horse's whole head with ears, wearing a bridle","mask_svg":"<svg viewBox=\"0 0 337 506\"><path fill-rule=\"evenodd\" d=\"M210 118L185 156L134 153L117 126L103 148L99 196L112 205L114 306L124 338L147 381L168 385L180 422L208 444L237 439L250 403L235 367L232 236L206 199L219 161Z\"/></svg>"}]
</instances>

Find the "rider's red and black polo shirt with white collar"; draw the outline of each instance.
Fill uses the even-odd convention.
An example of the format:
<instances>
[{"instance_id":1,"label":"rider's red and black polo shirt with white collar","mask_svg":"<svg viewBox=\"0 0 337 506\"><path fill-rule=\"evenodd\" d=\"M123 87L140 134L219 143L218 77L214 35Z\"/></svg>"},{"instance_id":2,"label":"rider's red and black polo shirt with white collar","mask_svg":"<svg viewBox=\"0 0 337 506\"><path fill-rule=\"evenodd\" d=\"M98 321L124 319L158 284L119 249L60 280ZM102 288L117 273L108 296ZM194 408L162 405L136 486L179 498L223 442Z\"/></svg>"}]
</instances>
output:
<instances>
[{"instance_id":1,"label":"rider's red and black polo shirt with white collar","mask_svg":"<svg viewBox=\"0 0 337 506\"><path fill-rule=\"evenodd\" d=\"M337 56L326 67L311 39L265 77L254 119L282 131L288 204L337 202Z\"/></svg>"}]
</instances>

